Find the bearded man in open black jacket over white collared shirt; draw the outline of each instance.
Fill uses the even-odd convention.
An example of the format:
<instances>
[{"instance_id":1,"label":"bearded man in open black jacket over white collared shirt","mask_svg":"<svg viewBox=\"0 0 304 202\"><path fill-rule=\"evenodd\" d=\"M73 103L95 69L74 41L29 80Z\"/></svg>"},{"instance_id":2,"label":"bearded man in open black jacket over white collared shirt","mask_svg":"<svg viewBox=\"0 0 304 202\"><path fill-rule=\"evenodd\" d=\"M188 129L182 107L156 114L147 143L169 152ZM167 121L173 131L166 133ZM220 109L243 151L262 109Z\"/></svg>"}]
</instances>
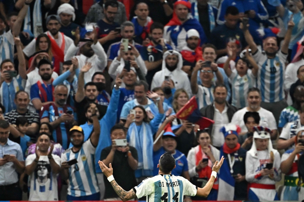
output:
<instances>
[{"instance_id":1,"label":"bearded man in open black jacket over white collared shirt","mask_svg":"<svg viewBox=\"0 0 304 202\"><path fill-rule=\"evenodd\" d=\"M209 126L208 133L212 139L212 145L219 149L225 142L224 134L219 131L225 124L231 122L237 108L226 102L227 88L223 84L214 87L213 95L214 101L200 109L200 112L202 116L214 120L214 124Z\"/></svg>"}]
</instances>

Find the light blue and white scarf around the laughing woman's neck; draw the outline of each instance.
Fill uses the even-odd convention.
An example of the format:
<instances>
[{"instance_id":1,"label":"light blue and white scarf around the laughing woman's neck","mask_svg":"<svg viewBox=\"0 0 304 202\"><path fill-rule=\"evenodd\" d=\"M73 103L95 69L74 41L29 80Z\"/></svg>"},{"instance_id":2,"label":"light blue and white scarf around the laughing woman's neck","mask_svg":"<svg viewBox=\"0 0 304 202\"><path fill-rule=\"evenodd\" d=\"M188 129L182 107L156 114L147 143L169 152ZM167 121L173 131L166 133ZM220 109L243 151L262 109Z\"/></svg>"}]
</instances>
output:
<instances>
[{"instance_id":1,"label":"light blue and white scarf around the laughing woman's neck","mask_svg":"<svg viewBox=\"0 0 304 202\"><path fill-rule=\"evenodd\" d=\"M143 122L140 131L133 122L128 130L129 145L137 150L138 168L142 176L149 176L153 171L153 134L149 123Z\"/></svg>"}]
</instances>

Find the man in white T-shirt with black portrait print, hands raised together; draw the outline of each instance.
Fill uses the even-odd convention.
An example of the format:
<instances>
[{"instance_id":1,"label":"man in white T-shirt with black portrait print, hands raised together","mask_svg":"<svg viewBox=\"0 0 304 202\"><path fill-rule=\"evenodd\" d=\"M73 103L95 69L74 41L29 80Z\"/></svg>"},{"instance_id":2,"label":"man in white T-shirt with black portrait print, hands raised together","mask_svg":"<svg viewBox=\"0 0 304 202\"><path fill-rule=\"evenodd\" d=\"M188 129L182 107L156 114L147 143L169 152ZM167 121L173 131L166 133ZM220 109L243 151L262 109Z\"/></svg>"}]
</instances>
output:
<instances>
[{"instance_id":1,"label":"man in white T-shirt with black portrait print, hands raised together","mask_svg":"<svg viewBox=\"0 0 304 202\"><path fill-rule=\"evenodd\" d=\"M60 172L60 157L52 154L53 149L54 145L48 134L40 133L36 152L26 157L25 173L29 175L31 201L58 200L57 174Z\"/></svg>"}]
</instances>

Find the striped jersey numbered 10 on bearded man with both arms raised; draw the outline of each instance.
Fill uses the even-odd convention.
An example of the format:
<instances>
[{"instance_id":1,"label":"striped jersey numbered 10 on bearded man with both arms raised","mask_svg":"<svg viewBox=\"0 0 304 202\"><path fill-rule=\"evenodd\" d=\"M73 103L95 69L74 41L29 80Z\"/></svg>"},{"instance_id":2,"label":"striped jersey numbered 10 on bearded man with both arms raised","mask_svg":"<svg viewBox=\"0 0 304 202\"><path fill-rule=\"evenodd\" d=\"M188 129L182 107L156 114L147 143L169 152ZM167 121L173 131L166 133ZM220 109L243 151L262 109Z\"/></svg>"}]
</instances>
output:
<instances>
[{"instance_id":1,"label":"striped jersey numbered 10 on bearded man with both arms raised","mask_svg":"<svg viewBox=\"0 0 304 202\"><path fill-rule=\"evenodd\" d=\"M265 52L257 50L253 58L259 66L257 88L261 90L262 101L274 103L284 99L284 70L287 54L279 50L275 58L269 59Z\"/></svg>"}]
</instances>

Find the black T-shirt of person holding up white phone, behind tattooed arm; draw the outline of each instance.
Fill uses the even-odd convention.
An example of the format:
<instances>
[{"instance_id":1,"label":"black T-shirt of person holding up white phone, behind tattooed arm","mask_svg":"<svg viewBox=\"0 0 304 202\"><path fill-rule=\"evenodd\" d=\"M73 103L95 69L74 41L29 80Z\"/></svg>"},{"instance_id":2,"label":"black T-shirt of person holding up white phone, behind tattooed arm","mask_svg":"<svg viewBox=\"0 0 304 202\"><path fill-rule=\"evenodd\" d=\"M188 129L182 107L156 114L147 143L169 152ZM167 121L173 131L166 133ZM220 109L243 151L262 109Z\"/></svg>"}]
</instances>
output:
<instances>
[{"instance_id":1,"label":"black T-shirt of person holding up white phone, behind tattooed arm","mask_svg":"<svg viewBox=\"0 0 304 202\"><path fill-rule=\"evenodd\" d=\"M137 151L134 147L129 146L132 157L138 160ZM112 146L105 147L101 151L100 160L107 158L111 151ZM114 153L113 161L113 177L117 184L121 186L124 190L131 190L133 187L137 186L135 171L129 166L128 163L128 153L116 150ZM118 197L112 185L105 175L103 175L105 181L105 199Z\"/></svg>"}]
</instances>

